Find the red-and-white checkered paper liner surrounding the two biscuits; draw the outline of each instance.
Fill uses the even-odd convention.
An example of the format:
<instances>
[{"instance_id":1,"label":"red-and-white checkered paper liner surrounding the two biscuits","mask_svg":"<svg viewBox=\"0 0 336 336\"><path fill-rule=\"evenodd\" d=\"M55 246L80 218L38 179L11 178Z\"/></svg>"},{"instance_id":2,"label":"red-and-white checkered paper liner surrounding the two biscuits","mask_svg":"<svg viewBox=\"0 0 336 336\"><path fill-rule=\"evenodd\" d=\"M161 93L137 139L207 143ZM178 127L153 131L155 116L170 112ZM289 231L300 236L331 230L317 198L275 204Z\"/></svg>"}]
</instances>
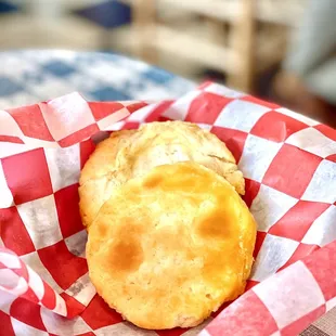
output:
<instances>
[{"instance_id":1,"label":"red-and-white checkered paper liner surrounding the two biscuits","mask_svg":"<svg viewBox=\"0 0 336 336\"><path fill-rule=\"evenodd\" d=\"M154 332L95 294L77 189L91 137L167 119L227 143L258 235L243 296L196 328ZM336 306L336 131L215 83L156 104L73 93L0 111L0 224L1 335L296 335Z\"/></svg>"}]
</instances>

